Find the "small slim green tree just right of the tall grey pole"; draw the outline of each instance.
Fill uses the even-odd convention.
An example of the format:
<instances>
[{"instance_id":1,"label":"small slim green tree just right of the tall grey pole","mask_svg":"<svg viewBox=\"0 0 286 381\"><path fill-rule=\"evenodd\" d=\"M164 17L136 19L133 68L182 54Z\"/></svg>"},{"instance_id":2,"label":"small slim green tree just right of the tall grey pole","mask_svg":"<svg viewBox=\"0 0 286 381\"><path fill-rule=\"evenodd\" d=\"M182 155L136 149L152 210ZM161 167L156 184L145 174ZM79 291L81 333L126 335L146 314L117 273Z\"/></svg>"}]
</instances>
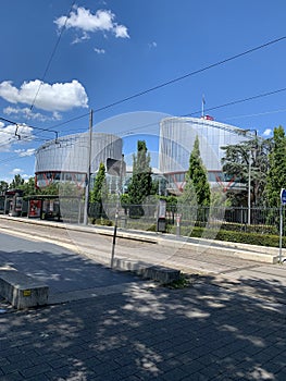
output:
<instances>
[{"instance_id":1,"label":"small slim green tree just right of the tall grey pole","mask_svg":"<svg viewBox=\"0 0 286 381\"><path fill-rule=\"evenodd\" d=\"M104 217L102 200L107 197L105 167L101 162L96 175L94 188L90 192L90 204L92 205L92 216L98 219Z\"/></svg>"}]
</instances>

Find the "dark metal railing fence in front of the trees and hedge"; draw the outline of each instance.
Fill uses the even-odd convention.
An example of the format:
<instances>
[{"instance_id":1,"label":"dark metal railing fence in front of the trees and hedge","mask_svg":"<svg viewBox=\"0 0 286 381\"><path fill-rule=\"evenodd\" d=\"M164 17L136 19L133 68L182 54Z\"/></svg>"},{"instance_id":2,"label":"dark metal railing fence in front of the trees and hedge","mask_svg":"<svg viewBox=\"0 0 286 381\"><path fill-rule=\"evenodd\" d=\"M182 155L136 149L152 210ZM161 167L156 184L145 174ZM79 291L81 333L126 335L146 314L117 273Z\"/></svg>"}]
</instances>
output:
<instances>
[{"instance_id":1,"label":"dark metal railing fence in front of the trees and hedge","mask_svg":"<svg viewBox=\"0 0 286 381\"><path fill-rule=\"evenodd\" d=\"M119 211L119 225L126 229L157 230L158 204L125 205L124 208L116 204L102 204L89 206L89 218L95 223L114 223L116 210ZM278 208L251 208L250 224L248 224L249 209L245 207L190 207L186 205L167 206L166 224L169 231L177 223L182 228L192 229L201 226L208 229L224 229L261 234L278 234L279 209ZM283 210L285 220L285 210ZM285 226L285 223L284 223Z\"/></svg>"}]
</instances>

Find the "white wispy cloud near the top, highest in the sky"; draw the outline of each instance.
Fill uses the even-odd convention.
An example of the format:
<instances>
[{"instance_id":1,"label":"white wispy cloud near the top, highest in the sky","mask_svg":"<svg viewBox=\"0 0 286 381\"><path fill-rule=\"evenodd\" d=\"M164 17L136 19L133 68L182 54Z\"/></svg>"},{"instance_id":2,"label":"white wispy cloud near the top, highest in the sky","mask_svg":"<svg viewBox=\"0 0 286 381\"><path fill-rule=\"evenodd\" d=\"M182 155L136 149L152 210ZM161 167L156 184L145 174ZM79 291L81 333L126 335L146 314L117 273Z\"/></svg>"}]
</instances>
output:
<instances>
[{"instance_id":1,"label":"white wispy cloud near the top, highest in the sky","mask_svg":"<svg viewBox=\"0 0 286 381\"><path fill-rule=\"evenodd\" d=\"M70 16L61 16L54 21L59 28L64 25L69 28L76 28L84 33L110 32L120 38L129 38L127 27L114 22L115 14L110 10L98 10L95 14L83 7L75 7Z\"/></svg>"}]
</instances>

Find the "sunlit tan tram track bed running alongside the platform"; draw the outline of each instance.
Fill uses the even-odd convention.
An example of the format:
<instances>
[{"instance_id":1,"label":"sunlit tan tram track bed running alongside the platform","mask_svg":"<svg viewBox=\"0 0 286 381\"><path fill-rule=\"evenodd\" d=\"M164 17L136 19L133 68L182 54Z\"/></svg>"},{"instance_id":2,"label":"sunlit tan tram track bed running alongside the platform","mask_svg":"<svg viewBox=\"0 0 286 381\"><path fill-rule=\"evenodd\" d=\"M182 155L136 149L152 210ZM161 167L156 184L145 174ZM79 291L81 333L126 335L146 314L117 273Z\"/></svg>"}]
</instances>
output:
<instances>
[{"instance_id":1,"label":"sunlit tan tram track bed running alongside the platform","mask_svg":"<svg viewBox=\"0 0 286 381\"><path fill-rule=\"evenodd\" d=\"M76 231L73 225L62 225L63 229L51 223L28 224L16 219L0 219L0 232L22 235L42 242L58 243L98 263L109 266L111 260L112 236L98 233ZM203 249L204 248L204 249ZM238 269L260 266L252 260L209 255L207 246L197 251L182 242L181 247L162 246L149 242L117 238L115 256L135 261L178 268L184 272L224 273Z\"/></svg>"}]
</instances>

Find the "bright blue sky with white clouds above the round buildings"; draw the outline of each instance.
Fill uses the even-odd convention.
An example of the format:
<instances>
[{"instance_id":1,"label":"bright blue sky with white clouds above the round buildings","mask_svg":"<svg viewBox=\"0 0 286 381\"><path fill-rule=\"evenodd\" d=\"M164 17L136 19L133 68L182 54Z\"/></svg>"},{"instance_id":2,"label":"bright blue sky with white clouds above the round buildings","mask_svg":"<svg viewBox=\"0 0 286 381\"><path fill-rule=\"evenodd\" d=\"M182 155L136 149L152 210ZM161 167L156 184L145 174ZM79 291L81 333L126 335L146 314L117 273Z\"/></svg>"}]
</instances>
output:
<instances>
[{"instance_id":1,"label":"bright blue sky with white clouds above the round buildings","mask_svg":"<svg viewBox=\"0 0 286 381\"><path fill-rule=\"evenodd\" d=\"M11 181L16 173L34 175L34 150L55 136L39 128L60 136L84 132L91 108L104 108L283 37L285 13L284 0L1 2L0 116L18 127L0 120L0 180ZM121 134L129 155L138 136L156 134L162 115L198 112L199 116L202 95L208 109L282 89L285 67L283 39L96 111L95 131L104 127ZM132 116L124 120L122 114ZM286 126L286 91L210 114L219 122L271 136L275 126ZM148 127L150 120L154 126ZM152 144L149 149L156 150Z\"/></svg>"}]
</instances>

